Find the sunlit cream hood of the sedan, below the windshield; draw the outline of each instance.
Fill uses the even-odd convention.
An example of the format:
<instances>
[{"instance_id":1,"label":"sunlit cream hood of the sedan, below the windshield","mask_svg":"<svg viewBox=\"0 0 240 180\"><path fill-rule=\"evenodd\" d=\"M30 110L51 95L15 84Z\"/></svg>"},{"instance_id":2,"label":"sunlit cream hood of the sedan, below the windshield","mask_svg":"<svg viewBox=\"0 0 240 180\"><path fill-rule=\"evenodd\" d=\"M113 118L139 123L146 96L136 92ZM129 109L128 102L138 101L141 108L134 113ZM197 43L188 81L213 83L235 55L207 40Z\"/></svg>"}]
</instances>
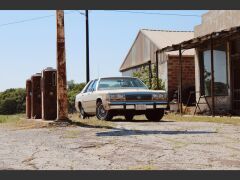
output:
<instances>
[{"instance_id":1,"label":"sunlit cream hood of the sedan, below the windshield","mask_svg":"<svg viewBox=\"0 0 240 180\"><path fill-rule=\"evenodd\" d=\"M98 92L101 93L166 93L164 90L149 90L149 89L108 89L108 90L100 90Z\"/></svg>"}]
</instances>

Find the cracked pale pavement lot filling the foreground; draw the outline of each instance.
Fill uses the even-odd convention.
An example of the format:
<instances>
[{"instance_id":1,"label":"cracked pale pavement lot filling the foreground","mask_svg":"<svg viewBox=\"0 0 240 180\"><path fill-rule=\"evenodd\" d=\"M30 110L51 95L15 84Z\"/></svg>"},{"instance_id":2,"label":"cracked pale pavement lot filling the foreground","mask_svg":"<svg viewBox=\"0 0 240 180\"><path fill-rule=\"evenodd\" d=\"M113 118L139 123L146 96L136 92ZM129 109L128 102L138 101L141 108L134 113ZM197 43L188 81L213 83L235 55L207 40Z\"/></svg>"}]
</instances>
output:
<instances>
[{"instance_id":1,"label":"cracked pale pavement lot filling the foreground","mask_svg":"<svg viewBox=\"0 0 240 180\"><path fill-rule=\"evenodd\" d=\"M240 169L239 125L95 121L0 124L0 169Z\"/></svg>"}]
</instances>

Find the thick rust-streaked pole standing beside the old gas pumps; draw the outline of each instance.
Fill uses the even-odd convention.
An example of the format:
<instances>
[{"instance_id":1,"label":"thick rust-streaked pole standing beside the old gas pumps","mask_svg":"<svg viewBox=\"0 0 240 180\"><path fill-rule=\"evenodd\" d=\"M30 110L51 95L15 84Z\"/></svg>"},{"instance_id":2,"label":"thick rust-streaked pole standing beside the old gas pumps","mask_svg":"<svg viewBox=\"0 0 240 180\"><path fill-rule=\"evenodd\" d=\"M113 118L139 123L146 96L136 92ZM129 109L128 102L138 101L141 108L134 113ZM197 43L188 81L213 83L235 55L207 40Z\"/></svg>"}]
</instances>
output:
<instances>
[{"instance_id":1,"label":"thick rust-streaked pole standing beside the old gas pumps","mask_svg":"<svg viewBox=\"0 0 240 180\"><path fill-rule=\"evenodd\" d=\"M68 119L64 11L57 10L57 120Z\"/></svg>"}]
</instances>

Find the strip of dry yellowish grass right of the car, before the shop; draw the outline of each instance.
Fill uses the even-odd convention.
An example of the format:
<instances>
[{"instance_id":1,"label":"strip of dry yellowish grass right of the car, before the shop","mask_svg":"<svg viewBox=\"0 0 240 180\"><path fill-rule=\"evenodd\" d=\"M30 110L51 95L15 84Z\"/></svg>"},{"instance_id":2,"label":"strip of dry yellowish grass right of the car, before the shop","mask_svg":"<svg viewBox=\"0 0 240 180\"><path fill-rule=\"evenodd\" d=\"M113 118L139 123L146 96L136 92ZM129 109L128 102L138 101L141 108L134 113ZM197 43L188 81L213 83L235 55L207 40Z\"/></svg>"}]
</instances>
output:
<instances>
[{"instance_id":1,"label":"strip of dry yellowish grass right of the car, before the shop","mask_svg":"<svg viewBox=\"0 0 240 180\"><path fill-rule=\"evenodd\" d=\"M180 116L177 114L169 113L163 117L165 120L173 120L177 122L212 122L212 123L224 123L240 125L240 117L211 117L211 116Z\"/></svg>"}]
</instances>

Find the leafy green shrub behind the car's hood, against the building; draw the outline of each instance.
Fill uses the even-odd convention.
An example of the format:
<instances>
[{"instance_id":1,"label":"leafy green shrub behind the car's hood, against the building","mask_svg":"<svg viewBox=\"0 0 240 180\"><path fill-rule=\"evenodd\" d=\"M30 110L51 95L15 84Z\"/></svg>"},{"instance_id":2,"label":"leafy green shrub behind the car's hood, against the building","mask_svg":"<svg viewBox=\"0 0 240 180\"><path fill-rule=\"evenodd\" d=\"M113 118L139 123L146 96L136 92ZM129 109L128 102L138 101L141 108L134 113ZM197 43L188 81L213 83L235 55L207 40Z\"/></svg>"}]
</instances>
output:
<instances>
[{"instance_id":1,"label":"leafy green shrub behind the car's hood, against the building","mask_svg":"<svg viewBox=\"0 0 240 180\"><path fill-rule=\"evenodd\" d=\"M156 77L156 65L152 66L152 77L151 79L149 78L149 68L148 67L142 67L139 71L133 72L133 77L137 77L140 80L144 82L144 84L147 85L149 89L154 89L154 90L164 90L165 89L165 84L162 81L162 79ZM151 80L151 84L150 84ZM159 88L157 87L157 81L159 83Z\"/></svg>"}]
</instances>

